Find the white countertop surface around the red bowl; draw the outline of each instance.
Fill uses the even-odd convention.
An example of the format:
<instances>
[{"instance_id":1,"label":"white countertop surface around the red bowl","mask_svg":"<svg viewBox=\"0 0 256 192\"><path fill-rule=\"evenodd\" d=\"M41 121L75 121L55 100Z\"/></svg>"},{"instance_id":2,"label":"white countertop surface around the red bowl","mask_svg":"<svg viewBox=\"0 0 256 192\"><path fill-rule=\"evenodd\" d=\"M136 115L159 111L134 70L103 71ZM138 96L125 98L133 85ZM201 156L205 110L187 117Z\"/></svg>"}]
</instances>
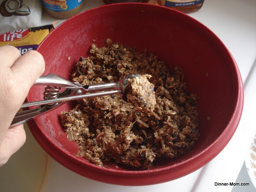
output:
<instances>
[{"instance_id":1,"label":"white countertop surface around the red bowl","mask_svg":"<svg viewBox=\"0 0 256 192\"><path fill-rule=\"evenodd\" d=\"M101 0L85 0L84 10L100 5L104 5ZM256 108L256 68L253 68L256 65L256 1L205 0L199 11L189 15L220 37L234 56L244 82L241 121L234 136L218 156L203 168L177 180L152 186L116 186L69 171L48 156L26 128L25 145L0 168L0 191L231 191L232 186L215 186L214 183L236 182L256 132L253 121ZM55 20L43 11L42 25ZM240 188L246 191L246 187Z\"/></svg>"}]
</instances>

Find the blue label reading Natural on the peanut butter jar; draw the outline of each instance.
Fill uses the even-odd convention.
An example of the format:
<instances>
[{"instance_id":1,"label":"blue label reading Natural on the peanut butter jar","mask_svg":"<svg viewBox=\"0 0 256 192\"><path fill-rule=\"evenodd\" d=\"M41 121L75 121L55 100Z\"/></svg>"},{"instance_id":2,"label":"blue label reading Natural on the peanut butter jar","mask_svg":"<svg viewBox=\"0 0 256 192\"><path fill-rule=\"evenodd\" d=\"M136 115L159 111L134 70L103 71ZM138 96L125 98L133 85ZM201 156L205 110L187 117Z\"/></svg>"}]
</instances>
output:
<instances>
[{"instance_id":1,"label":"blue label reading Natural on the peanut butter jar","mask_svg":"<svg viewBox=\"0 0 256 192\"><path fill-rule=\"evenodd\" d=\"M43 5L51 11L68 11L76 8L83 0L43 0Z\"/></svg>"}]
</instances>

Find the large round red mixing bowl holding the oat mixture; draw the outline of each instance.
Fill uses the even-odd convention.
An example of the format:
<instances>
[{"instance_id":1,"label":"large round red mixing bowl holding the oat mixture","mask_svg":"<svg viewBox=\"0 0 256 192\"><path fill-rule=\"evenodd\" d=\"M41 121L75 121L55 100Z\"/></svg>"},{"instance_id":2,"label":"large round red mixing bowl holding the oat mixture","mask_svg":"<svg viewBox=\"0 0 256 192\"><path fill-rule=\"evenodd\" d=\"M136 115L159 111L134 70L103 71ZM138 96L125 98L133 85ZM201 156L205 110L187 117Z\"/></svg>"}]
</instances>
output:
<instances>
[{"instance_id":1,"label":"large round red mixing bowl holding the oat mixture","mask_svg":"<svg viewBox=\"0 0 256 192\"><path fill-rule=\"evenodd\" d=\"M172 68L185 71L187 89L200 96L200 138L180 158L154 164L150 170L131 170L114 163L99 167L75 154L75 142L66 138L59 114L73 107L69 102L28 122L30 131L57 162L93 180L117 185L151 185L174 180L207 164L227 145L236 131L243 108L243 83L236 61L207 27L181 12L152 4L122 3L82 12L55 28L38 46L44 56L44 75L69 73L81 56L90 55L93 40L107 38L155 53ZM206 75L209 74L209 75ZM34 86L28 101L42 100L44 87ZM208 118L210 117L210 119Z\"/></svg>"}]
</instances>

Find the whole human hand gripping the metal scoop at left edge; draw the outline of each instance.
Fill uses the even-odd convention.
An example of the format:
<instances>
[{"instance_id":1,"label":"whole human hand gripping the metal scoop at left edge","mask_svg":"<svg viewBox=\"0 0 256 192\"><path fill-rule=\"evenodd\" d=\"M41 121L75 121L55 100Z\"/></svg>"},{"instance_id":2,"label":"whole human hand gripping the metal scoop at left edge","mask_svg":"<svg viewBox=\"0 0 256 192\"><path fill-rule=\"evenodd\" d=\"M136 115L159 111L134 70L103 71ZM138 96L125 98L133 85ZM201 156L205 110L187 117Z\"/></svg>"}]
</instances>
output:
<instances>
[{"instance_id":1,"label":"whole human hand gripping the metal scoop at left edge","mask_svg":"<svg viewBox=\"0 0 256 192\"><path fill-rule=\"evenodd\" d=\"M0 166L25 143L23 124L9 129L30 87L44 72L43 56L28 51L21 56L10 45L0 47Z\"/></svg>"}]
</instances>

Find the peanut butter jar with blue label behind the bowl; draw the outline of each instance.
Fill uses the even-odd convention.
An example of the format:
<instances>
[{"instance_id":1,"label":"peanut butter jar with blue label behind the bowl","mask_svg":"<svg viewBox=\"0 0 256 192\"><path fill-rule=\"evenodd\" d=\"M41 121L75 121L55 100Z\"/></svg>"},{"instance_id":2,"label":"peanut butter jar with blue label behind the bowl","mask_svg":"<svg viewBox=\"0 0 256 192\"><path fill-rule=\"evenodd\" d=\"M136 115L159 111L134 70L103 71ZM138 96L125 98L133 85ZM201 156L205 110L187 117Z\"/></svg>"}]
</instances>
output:
<instances>
[{"instance_id":1,"label":"peanut butter jar with blue label behind the bowl","mask_svg":"<svg viewBox=\"0 0 256 192\"><path fill-rule=\"evenodd\" d=\"M84 0L42 0L46 12L57 19L68 19L81 12Z\"/></svg>"}]
</instances>

